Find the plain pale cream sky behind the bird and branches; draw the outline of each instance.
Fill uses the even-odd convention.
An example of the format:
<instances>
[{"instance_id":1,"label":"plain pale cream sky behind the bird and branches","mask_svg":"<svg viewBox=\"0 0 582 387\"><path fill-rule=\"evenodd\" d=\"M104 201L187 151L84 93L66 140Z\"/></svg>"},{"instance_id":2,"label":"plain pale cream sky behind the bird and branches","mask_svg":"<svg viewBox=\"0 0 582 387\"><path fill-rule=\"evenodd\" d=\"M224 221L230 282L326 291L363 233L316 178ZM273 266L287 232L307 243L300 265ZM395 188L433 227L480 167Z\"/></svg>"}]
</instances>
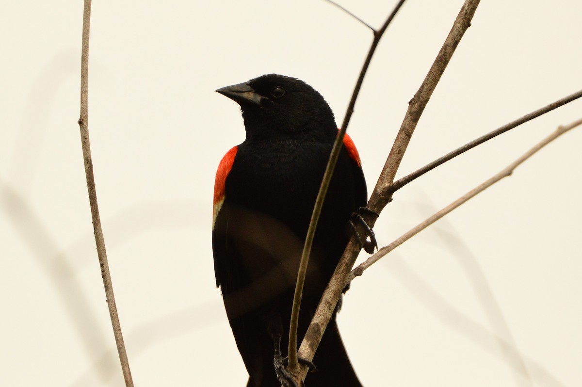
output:
<instances>
[{"instance_id":1,"label":"plain pale cream sky behind the bird and branches","mask_svg":"<svg viewBox=\"0 0 582 387\"><path fill-rule=\"evenodd\" d=\"M396 2L340 3L379 27ZM409 0L378 47L348 130L370 190L462 3ZM83 3L2 9L0 385L120 386L77 125ZM399 176L580 90L580 15L579 0L482 1ZM339 125L370 42L323 1L93 3L91 147L136 385L246 383L210 243L215 169L244 129L214 90L299 77ZM382 212L378 242L581 117L572 102L421 177ZM339 324L364 385L529 385L495 340L508 332L491 303L532 385L582 384L581 145L582 127L354 281Z\"/></svg>"}]
</instances>

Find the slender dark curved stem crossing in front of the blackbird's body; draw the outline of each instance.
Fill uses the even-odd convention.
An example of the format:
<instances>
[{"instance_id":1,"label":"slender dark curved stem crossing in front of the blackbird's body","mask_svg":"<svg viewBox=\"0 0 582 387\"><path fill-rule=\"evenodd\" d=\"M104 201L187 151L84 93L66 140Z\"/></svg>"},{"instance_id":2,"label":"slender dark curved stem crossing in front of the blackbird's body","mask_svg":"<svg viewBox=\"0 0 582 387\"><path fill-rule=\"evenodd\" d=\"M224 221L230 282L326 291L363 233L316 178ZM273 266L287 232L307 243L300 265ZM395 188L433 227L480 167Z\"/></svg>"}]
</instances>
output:
<instances>
[{"instance_id":1,"label":"slender dark curved stem crossing in front of the blackbird's body","mask_svg":"<svg viewBox=\"0 0 582 387\"><path fill-rule=\"evenodd\" d=\"M398 13L398 10L400 9L404 1L405 0L400 0L398 4L396 4L395 8L392 10L392 13L390 14L390 16L388 16L388 19L386 19L386 22L384 23L381 29L379 29L378 31L372 29L374 31L374 40L372 41L370 50L368 51L368 56L366 57L364 65L360 71L360 76L358 77L358 80L356 82L356 87L354 87L352 99L350 100L350 103L347 106L347 111L343 119L342 127L338 132L338 137L336 137L335 143L333 143L333 148L331 151L331 155L329 156L328 165L327 168L325 169L324 177L321 182L320 191L318 192L317 199L315 200L313 214L311 214L311 221L309 223L305 244L303 246L303 253L301 254L299 271L297 272L297 282L295 286L295 293L293 295L293 308L291 310L291 321L289 324L289 349L288 349L289 371L293 375L296 375L296 371L299 370L299 363L297 362L297 327L299 325L299 310L301 307L301 296L303 295L303 285L305 283L305 276L307 273L307 264L309 262L311 245L313 244L315 229L317 228L317 222L319 221L320 218L321 208L323 207L323 203L325 200L325 194L327 193L329 182L331 181L333 169L335 169L336 162L338 161L339 152L342 150L343 137L346 133L347 125L350 122L350 118L352 118L354 105L356 105L356 99L358 97L358 94L360 93L360 88L364 81L365 73L367 72L368 66L370 65L370 62L372 60L372 55L374 55L374 51L378 46L378 42L380 41L380 38L384 34L384 31L386 31L386 29L396 16L396 13ZM297 382L299 382L299 380Z\"/></svg>"}]
</instances>

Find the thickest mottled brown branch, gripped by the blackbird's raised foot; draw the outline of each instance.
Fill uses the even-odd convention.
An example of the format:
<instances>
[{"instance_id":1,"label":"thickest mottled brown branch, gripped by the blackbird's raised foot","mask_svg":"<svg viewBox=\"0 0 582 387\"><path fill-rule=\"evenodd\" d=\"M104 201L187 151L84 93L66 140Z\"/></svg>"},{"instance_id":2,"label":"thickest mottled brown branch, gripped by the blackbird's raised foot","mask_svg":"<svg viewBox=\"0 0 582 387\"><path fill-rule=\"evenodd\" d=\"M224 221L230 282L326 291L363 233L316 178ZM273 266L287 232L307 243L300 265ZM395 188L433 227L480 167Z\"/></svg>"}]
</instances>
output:
<instances>
[{"instance_id":1,"label":"thickest mottled brown branch, gripped by the blackbird's raised foot","mask_svg":"<svg viewBox=\"0 0 582 387\"><path fill-rule=\"evenodd\" d=\"M382 193L382 187L392 183L400 161L404 156L404 151L410 141L410 138L416 128L418 119L420 119L421 113L424 111L424 107L427 105L432 92L442 73L444 72L446 65L448 65L450 58L455 52L457 45L459 44L461 38L465 31L469 28L471 19L477 9L479 0L467 0L462 9L457 16L455 23L453 23L452 30L450 31L448 37L443 44L441 51L437 55L435 62L432 64L427 76L425 77L423 84L421 84L417 93L414 95L413 99L410 101L409 108L406 112L406 116L403 120L402 126L396 140L392 146L392 150L386 160L384 169L378 179L374 192L368 201L368 208L375 212L380 212L382 208L388 203L389 198ZM381 30L382 31L382 30ZM379 33L380 31L378 31ZM364 70L363 70L364 71ZM362 76L360 76L362 77ZM353 105L352 105L353 108ZM351 113L348 111L348 113ZM343 128L342 126L342 129ZM370 225L374 225L375 218L372 216L364 216L365 220ZM362 230L363 231L363 230ZM315 350L321 341L321 337L327 327L329 319L335 309L340 293L342 292L343 286L346 283L347 275L350 272L354 262L356 261L357 254L360 251L360 244L356 242L356 239L352 237L350 242L347 244L346 250L339 261L338 267L336 267L335 272L329 282L325 292L320 300L320 304L317 307L317 311L311 324L307 329L306 335L301 343L299 349L299 356L302 358L307 358L309 360L313 359ZM301 379L305 378L307 374L307 367L301 366Z\"/></svg>"}]
</instances>

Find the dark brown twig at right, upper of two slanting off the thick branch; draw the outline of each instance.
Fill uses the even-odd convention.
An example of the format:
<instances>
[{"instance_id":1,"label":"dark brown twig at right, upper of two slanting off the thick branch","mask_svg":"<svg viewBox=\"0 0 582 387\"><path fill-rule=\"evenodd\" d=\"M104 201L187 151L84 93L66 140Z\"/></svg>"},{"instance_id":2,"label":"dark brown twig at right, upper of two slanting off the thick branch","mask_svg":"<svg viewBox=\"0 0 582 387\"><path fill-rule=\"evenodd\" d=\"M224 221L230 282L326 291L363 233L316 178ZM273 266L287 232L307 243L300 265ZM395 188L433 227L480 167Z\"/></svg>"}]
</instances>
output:
<instances>
[{"instance_id":1,"label":"dark brown twig at right, upper of two slanting off the thick branch","mask_svg":"<svg viewBox=\"0 0 582 387\"><path fill-rule=\"evenodd\" d=\"M569 102L577 100L580 97L582 97L582 90L578 91L577 93L570 94L567 97L562 98L561 100L552 102L551 104L544 106L543 108L537 109L534 112L531 112L527 115L524 115L523 117L521 117L519 119L516 119L516 120L514 120L506 125L499 127L498 129L495 129L493 132L489 132L489 133L485 134L484 136L481 136L478 139L475 139L475 140L471 141L470 143L467 143L467 144L463 145L462 147L457 148L456 150L454 150L452 152L449 152L448 154L442 156L441 158L438 158L435 161L432 161L431 163L423 166L423 168L420 168L417 171L410 173L410 175L404 176L404 177L402 177L402 179L396 180L396 182L390 184L389 187L386 188L386 190L388 190L388 196L392 196L393 193L395 193L396 191L398 191L403 186L410 183L412 180L416 179L417 177L424 175L428 171L431 171L432 169L437 168L437 166L449 161L452 158L457 157L458 155L476 147L477 145L480 145L480 144L484 143L485 141L491 140L492 138L499 136L499 134L508 132L508 130L513 129L514 127L519 126L522 123L526 123L526 122L533 120L534 118L537 118L537 117L539 117L547 112L551 112L553 109L559 108L562 105L566 105Z\"/></svg>"}]
</instances>

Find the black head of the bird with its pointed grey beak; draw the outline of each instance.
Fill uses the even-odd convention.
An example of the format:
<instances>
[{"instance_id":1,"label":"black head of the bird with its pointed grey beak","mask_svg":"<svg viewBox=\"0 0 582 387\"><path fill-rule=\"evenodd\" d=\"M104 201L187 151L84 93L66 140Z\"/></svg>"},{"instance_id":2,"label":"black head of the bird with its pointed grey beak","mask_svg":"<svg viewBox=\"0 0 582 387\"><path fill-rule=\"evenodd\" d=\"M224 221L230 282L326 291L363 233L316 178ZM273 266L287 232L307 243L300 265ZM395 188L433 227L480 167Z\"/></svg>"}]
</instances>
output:
<instances>
[{"instance_id":1,"label":"black head of the bird with its pointed grey beak","mask_svg":"<svg viewBox=\"0 0 582 387\"><path fill-rule=\"evenodd\" d=\"M240 105L247 139L318 139L337 133L327 102L299 79L267 74L217 92Z\"/></svg>"}]
</instances>

